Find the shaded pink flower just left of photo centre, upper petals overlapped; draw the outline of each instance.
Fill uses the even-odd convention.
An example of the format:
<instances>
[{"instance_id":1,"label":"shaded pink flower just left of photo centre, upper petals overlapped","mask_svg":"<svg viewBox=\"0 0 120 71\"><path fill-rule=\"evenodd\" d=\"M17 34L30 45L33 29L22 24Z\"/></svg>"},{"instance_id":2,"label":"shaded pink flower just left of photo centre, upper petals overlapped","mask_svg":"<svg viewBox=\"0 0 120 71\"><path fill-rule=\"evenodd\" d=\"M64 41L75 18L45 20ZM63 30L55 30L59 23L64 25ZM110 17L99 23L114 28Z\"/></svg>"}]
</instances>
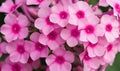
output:
<instances>
[{"instance_id":1,"label":"shaded pink flower just left of photo centre, upper petals overlapped","mask_svg":"<svg viewBox=\"0 0 120 71\"><path fill-rule=\"evenodd\" d=\"M40 34L39 42L43 45L47 45L51 50L55 50L63 45L64 40L60 37L61 29L55 29L48 35Z\"/></svg>"}]
</instances>

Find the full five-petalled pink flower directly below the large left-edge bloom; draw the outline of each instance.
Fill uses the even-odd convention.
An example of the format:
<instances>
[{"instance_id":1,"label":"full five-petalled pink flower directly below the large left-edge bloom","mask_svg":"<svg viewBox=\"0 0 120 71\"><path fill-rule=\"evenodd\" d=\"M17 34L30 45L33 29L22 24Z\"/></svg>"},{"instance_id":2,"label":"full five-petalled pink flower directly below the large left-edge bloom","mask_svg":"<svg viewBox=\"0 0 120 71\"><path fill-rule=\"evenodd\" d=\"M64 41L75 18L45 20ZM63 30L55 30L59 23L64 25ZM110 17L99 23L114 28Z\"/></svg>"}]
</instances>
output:
<instances>
[{"instance_id":1,"label":"full five-petalled pink flower directly below the large left-edge bloom","mask_svg":"<svg viewBox=\"0 0 120 71\"><path fill-rule=\"evenodd\" d=\"M27 63L29 59L29 53L33 48L33 43L30 41L16 40L9 43L6 46L6 51L8 52L11 62Z\"/></svg>"}]
</instances>

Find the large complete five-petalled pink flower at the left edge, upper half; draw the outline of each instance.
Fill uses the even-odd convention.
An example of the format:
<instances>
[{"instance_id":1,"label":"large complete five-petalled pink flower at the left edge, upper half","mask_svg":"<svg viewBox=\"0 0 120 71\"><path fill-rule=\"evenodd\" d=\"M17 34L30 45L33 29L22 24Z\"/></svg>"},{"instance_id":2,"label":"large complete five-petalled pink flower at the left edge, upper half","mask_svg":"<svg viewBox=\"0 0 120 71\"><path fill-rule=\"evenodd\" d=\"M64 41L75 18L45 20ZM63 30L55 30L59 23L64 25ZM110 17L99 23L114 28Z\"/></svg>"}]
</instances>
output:
<instances>
[{"instance_id":1,"label":"large complete five-petalled pink flower at the left edge, upper half","mask_svg":"<svg viewBox=\"0 0 120 71\"><path fill-rule=\"evenodd\" d=\"M5 35L8 42L27 37L29 22L26 16L19 15L17 17L14 14L8 14L4 20L5 24L1 27L1 33Z\"/></svg>"}]
</instances>

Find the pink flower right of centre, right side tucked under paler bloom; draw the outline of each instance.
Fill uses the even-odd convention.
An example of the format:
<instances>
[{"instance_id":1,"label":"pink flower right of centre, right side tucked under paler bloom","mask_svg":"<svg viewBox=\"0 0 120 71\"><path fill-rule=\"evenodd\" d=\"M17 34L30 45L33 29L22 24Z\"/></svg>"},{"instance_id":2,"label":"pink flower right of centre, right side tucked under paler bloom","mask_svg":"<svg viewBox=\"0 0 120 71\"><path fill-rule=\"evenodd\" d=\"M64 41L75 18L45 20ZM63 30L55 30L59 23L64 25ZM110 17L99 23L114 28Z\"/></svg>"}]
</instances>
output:
<instances>
[{"instance_id":1,"label":"pink flower right of centre, right side tucked under paler bloom","mask_svg":"<svg viewBox=\"0 0 120 71\"><path fill-rule=\"evenodd\" d=\"M79 44L80 30L77 26L67 25L67 28L61 31L60 36L70 47L74 47Z\"/></svg>"}]
</instances>

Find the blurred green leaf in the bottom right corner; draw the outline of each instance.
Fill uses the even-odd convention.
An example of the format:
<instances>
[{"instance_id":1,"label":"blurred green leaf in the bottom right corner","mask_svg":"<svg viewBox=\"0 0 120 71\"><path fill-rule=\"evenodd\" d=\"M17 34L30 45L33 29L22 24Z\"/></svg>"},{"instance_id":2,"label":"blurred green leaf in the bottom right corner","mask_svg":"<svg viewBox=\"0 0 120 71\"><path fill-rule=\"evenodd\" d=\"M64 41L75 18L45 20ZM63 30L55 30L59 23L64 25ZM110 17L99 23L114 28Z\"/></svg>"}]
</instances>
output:
<instances>
[{"instance_id":1,"label":"blurred green leaf in the bottom right corner","mask_svg":"<svg viewBox=\"0 0 120 71\"><path fill-rule=\"evenodd\" d=\"M112 66L108 66L106 71L120 71L120 53L116 55L115 61Z\"/></svg>"}]
</instances>

